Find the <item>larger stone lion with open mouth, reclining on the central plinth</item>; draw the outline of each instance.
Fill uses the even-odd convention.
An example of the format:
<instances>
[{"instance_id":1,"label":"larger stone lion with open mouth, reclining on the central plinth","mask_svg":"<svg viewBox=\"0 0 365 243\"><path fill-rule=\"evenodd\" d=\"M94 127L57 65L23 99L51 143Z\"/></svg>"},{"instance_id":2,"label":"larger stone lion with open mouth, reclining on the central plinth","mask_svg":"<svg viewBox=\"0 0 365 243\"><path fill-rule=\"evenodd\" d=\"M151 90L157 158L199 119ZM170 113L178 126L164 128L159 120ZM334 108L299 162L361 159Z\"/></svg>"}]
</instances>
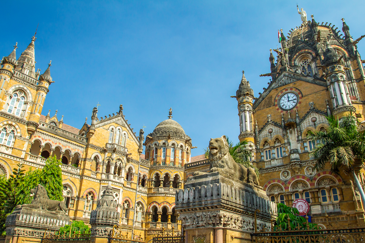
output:
<instances>
[{"instance_id":1,"label":"larger stone lion with open mouth, reclining on the central plinth","mask_svg":"<svg viewBox=\"0 0 365 243\"><path fill-rule=\"evenodd\" d=\"M259 186L258 177L253 168L246 168L234 161L229 153L226 136L211 138L209 142L210 171L221 171L228 176L241 180L245 183L252 183ZM197 172L195 175L203 174Z\"/></svg>"}]
</instances>

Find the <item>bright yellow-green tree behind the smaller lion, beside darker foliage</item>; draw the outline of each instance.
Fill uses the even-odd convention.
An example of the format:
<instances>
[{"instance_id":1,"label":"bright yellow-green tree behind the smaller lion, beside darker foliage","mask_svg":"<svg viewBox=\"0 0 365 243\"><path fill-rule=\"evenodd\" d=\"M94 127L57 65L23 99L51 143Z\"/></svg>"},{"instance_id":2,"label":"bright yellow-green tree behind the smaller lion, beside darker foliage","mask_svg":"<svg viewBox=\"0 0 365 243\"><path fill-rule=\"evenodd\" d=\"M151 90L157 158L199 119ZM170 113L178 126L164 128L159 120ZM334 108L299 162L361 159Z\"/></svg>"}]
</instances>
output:
<instances>
[{"instance_id":1,"label":"bright yellow-green tree behind the smaller lion, beside darker foliage","mask_svg":"<svg viewBox=\"0 0 365 243\"><path fill-rule=\"evenodd\" d=\"M57 160L56 156L49 157L42 169L39 184L46 188L49 199L63 201L62 171L59 165L61 160Z\"/></svg>"}]
</instances>

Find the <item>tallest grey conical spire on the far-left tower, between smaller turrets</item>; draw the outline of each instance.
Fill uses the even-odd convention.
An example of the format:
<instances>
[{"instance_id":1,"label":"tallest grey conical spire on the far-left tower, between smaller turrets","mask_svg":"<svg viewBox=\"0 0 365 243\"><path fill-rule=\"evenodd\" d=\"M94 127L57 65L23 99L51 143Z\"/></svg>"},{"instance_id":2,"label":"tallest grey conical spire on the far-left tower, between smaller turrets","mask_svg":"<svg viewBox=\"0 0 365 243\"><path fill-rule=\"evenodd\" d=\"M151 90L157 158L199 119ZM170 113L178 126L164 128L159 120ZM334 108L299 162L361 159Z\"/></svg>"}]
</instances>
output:
<instances>
[{"instance_id":1,"label":"tallest grey conical spire on the far-left tower, between smaller turrets","mask_svg":"<svg viewBox=\"0 0 365 243\"><path fill-rule=\"evenodd\" d=\"M35 78L35 54L34 54L34 42L35 42L35 36L32 37L31 43L28 45L28 47L25 49L25 51L22 52L22 55L20 55L18 59L18 64L16 65L16 70L19 70L20 72L29 75L33 78Z\"/></svg>"}]
</instances>

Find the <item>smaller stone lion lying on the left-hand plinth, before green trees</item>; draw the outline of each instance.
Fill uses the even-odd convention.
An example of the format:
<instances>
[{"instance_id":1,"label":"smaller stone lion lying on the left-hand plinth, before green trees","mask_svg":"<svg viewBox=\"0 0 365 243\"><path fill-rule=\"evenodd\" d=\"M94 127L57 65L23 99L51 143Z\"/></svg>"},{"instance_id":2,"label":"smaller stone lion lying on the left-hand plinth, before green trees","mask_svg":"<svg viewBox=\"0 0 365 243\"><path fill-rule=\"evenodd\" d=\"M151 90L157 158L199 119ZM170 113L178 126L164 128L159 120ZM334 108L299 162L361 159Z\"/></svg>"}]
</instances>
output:
<instances>
[{"instance_id":1,"label":"smaller stone lion lying on the left-hand plinth, before green trees","mask_svg":"<svg viewBox=\"0 0 365 243\"><path fill-rule=\"evenodd\" d=\"M30 204L18 205L17 207L25 208L39 208L48 211L65 212L67 213L67 207L64 201L51 200L48 197L46 188L41 184L30 190L33 195L33 200Z\"/></svg>"}]
</instances>

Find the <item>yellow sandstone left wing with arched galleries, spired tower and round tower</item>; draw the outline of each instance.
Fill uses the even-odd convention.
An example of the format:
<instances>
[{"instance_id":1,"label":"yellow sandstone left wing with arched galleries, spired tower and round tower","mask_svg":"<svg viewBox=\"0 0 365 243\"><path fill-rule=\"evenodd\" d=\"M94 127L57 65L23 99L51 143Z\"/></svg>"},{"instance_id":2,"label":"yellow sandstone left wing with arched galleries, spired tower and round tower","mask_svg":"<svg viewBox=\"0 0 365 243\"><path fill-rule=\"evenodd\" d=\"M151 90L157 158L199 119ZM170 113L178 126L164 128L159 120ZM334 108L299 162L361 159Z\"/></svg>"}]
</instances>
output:
<instances>
[{"instance_id":1,"label":"yellow sandstone left wing with arched galleries, spired tower and round tower","mask_svg":"<svg viewBox=\"0 0 365 243\"><path fill-rule=\"evenodd\" d=\"M184 188L184 165L190 160L191 139L169 119L146 138L133 132L120 105L116 114L97 118L81 129L64 124L57 110L41 115L49 86L50 66L35 71L35 39L21 56L16 48L1 61L0 174L9 177L18 163L42 168L46 158L62 160L64 201L71 220L89 222L97 200L111 181L120 229L150 240L159 231L181 232L174 213L175 191Z\"/></svg>"}]
</instances>

